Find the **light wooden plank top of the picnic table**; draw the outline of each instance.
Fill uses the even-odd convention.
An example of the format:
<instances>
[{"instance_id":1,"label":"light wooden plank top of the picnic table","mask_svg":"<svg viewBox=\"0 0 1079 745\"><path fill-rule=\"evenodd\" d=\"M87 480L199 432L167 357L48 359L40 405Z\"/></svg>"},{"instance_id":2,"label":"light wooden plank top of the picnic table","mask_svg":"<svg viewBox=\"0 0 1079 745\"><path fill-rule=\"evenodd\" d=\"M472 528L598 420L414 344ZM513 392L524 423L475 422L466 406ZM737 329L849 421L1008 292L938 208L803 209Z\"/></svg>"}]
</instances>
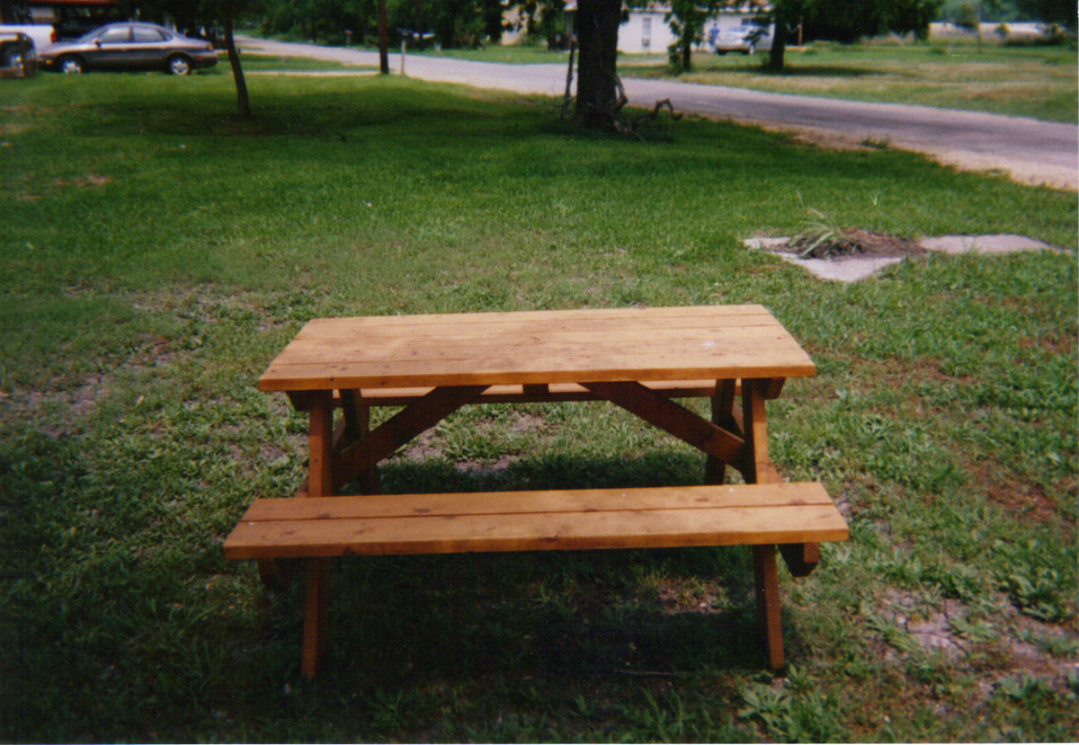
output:
<instances>
[{"instance_id":1,"label":"light wooden plank top of the picnic table","mask_svg":"<svg viewBox=\"0 0 1079 745\"><path fill-rule=\"evenodd\" d=\"M814 363L761 305L316 318L259 378L273 391L783 378Z\"/></svg>"}]
</instances>

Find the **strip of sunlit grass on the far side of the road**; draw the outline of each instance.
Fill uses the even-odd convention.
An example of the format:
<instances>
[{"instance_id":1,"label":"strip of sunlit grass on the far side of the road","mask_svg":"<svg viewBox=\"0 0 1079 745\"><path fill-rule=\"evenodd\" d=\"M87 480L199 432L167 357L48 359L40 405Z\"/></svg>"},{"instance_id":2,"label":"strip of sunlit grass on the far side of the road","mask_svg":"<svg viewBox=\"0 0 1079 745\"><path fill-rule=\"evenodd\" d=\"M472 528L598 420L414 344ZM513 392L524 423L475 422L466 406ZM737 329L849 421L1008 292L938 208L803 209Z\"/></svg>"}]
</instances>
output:
<instances>
[{"instance_id":1,"label":"strip of sunlit grass on the far side of the road","mask_svg":"<svg viewBox=\"0 0 1079 745\"><path fill-rule=\"evenodd\" d=\"M1002 46L979 49L965 40L930 43L814 42L791 50L781 73L764 69L765 53L698 53L693 71L680 81L730 85L774 93L825 96L965 109L1076 122L1079 85L1076 47ZM670 77L670 68L619 60L623 77Z\"/></svg>"}]
</instances>

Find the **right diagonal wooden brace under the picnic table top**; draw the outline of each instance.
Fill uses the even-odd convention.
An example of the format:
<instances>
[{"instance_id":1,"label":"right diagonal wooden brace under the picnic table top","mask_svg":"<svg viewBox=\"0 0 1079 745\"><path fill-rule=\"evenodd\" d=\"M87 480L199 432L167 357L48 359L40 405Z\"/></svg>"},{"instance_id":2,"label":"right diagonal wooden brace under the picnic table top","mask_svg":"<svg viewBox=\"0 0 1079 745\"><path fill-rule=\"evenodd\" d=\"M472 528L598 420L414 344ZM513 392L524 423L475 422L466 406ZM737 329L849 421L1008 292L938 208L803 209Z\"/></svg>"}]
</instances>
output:
<instances>
[{"instance_id":1,"label":"right diagonal wooden brace under the picnic table top","mask_svg":"<svg viewBox=\"0 0 1079 745\"><path fill-rule=\"evenodd\" d=\"M742 454L746 442L740 437L640 383L582 383L582 385L597 396L607 399L648 424L724 463L735 464Z\"/></svg>"}]
</instances>

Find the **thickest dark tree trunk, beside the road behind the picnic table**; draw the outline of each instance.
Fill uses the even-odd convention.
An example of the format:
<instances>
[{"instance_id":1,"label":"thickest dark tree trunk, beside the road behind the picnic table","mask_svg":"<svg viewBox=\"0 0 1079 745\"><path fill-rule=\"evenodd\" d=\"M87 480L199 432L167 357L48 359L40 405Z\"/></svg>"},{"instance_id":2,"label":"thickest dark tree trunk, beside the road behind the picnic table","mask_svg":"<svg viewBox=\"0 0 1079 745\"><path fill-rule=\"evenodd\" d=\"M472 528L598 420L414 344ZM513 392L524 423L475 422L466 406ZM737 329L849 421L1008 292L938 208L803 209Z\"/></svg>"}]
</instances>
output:
<instances>
[{"instance_id":1,"label":"thickest dark tree trunk, beside the road behind the picnic table","mask_svg":"<svg viewBox=\"0 0 1079 745\"><path fill-rule=\"evenodd\" d=\"M589 129L614 129L618 20L622 0L577 3L577 106L573 119Z\"/></svg>"}]
</instances>

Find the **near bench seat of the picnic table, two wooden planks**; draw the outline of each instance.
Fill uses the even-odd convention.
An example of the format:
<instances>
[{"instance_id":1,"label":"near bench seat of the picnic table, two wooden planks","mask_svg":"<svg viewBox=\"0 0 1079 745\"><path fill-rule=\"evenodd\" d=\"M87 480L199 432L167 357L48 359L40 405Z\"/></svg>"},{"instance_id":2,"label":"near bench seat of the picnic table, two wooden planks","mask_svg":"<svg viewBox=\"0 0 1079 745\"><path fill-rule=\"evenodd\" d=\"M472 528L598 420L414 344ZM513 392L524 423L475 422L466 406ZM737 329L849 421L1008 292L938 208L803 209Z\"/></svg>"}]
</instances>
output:
<instances>
[{"instance_id":1,"label":"near bench seat of the picnic table, two wooden planks","mask_svg":"<svg viewBox=\"0 0 1079 745\"><path fill-rule=\"evenodd\" d=\"M780 487L780 488L776 488ZM844 540L819 484L263 499L228 558ZM287 514L287 516L285 516Z\"/></svg>"}]
</instances>

